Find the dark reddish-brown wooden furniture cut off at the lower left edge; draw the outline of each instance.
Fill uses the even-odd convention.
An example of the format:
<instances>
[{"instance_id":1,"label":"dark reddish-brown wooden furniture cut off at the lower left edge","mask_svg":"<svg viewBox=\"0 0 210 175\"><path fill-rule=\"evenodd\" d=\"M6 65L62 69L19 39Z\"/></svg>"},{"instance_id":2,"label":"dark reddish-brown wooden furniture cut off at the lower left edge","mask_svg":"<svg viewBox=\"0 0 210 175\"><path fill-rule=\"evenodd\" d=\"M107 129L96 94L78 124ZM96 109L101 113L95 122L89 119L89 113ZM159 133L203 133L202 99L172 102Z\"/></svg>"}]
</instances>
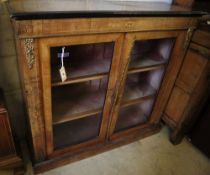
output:
<instances>
[{"instance_id":1,"label":"dark reddish-brown wooden furniture cut off at the lower left edge","mask_svg":"<svg viewBox=\"0 0 210 175\"><path fill-rule=\"evenodd\" d=\"M0 169L19 169L23 162L17 154L3 92L0 90Z\"/></svg>"}]
</instances>

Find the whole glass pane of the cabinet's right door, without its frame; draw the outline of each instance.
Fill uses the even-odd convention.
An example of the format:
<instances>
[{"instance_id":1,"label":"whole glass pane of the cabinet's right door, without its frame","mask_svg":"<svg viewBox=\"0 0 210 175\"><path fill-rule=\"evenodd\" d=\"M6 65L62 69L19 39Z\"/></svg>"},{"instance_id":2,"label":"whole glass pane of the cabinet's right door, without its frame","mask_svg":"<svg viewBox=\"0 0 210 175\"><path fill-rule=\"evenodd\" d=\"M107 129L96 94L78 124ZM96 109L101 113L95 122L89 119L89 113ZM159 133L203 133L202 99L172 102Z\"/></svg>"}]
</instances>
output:
<instances>
[{"instance_id":1,"label":"whole glass pane of the cabinet's right door, without its frame","mask_svg":"<svg viewBox=\"0 0 210 175\"><path fill-rule=\"evenodd\" d=\"M174 42L174 38L135 41L114 132L149 120Z\"/></svg>"}]
</instances>

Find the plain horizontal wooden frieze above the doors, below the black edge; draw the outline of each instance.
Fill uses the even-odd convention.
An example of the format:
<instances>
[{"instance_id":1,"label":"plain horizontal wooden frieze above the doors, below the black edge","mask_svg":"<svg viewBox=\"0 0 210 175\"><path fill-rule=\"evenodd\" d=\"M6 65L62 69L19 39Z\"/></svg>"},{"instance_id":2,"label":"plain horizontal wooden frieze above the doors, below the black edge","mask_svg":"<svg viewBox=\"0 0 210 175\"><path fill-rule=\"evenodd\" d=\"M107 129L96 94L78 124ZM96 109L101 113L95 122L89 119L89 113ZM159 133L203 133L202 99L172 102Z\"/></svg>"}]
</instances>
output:
<instances>
[{"instance_id":1,"label":"plain horizontal wooden frieze above the doors, below the black edge","mask_svg":"<svg viewBox=\"0 0 210 175\"><path fill-rule=\"evenodd\" d=\"M158 19L158 20L157 20ZM39 38L94 33L184 30L196 26L198 17L123 17L13 20L18 38ZM155 25L154 25L155 24ZM62 26L62 27L58 27Z\"/></svg>"}]
</instances>

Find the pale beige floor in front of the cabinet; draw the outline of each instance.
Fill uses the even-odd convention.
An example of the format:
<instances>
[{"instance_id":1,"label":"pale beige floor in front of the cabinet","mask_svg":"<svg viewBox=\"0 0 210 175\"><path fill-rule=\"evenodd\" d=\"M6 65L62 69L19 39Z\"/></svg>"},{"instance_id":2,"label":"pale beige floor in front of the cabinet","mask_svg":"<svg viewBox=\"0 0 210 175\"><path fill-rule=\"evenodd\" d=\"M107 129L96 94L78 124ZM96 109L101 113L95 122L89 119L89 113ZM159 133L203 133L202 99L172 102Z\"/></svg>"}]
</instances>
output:
<instances>
[{"instance_id":1,"label":"pale beige floor in front of the cabinet","mask_svg":"<svg viewBox=\"0 0 210 175\"><path fill-rule=\"evenodd\" d=\"M172 145L168 134L164 127L156 135L40 175L210 175L210 159L187 140Z\"/></svg>"}]
</instances>

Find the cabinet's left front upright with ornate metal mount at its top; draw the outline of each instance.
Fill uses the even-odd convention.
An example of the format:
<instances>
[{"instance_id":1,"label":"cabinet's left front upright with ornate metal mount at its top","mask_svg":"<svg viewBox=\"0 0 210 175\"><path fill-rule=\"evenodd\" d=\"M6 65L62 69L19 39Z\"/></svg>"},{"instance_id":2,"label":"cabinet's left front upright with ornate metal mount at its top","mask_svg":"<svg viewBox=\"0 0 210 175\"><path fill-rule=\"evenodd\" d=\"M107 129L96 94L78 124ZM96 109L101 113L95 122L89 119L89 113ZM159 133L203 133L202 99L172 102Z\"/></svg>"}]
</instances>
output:
<instances>
[{"instance_id":1,"label":"cabinet's left front upright with ornate metal mount at its top","mask_svg":"<svg viewBox=\"0 0 210 175\"><path fill-rule=\"evenodd\" d=\"M45 159L45 135L37 40L17 39L16 47L34 160L39 162Z\"/></svg>"}]
</instances>

